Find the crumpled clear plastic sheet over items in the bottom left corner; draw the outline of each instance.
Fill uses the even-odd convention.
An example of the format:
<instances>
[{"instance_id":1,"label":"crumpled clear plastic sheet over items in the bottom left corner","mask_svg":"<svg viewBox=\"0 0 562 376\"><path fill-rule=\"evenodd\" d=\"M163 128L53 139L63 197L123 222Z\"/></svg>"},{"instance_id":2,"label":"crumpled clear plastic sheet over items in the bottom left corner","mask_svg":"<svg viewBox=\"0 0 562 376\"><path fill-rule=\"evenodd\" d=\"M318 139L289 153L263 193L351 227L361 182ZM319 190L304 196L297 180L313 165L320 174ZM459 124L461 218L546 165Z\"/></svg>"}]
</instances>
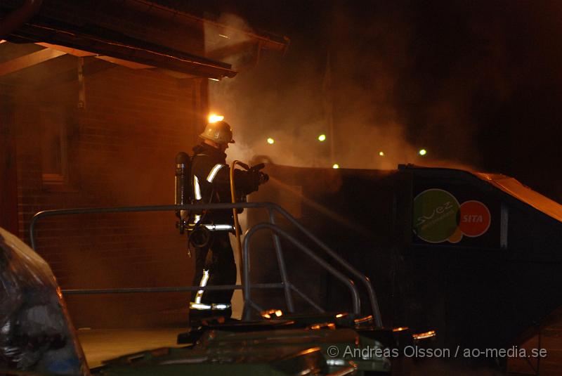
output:
<instances>
[{"instance_id":1,"label":"crumpled clear plastic sheet over items in the bottom left corner","mask_svg":"<svg viewBox=\"0 0 562 376\"><path fill-rule=\"evenodd\" d=\"M0 374L89 375L51 268L0 228Z\"/></svg>"}]
</instances>

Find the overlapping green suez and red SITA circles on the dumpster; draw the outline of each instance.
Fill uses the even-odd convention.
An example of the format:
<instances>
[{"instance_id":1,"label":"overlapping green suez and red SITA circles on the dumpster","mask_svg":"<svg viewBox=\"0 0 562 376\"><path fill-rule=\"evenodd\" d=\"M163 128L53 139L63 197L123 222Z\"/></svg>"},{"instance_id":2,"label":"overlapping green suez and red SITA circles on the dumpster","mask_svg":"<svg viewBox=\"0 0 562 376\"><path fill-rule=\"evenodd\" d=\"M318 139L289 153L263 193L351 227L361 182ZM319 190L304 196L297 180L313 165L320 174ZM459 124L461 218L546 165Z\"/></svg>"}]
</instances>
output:
<instances>
[{"instance_id":1,"label":"overlapping green suez and red SITA circles on the dumpster","mask_svg":"<svg viewBox=\"0 0 562 376\"><path fill-rule=\"evenodd\" d=\"M491 219L490 210L482 202L459 204L447 190L431 188L414 198L414 233L426 242L456 243L463 236L476 238L488 231Z\"/></svg>"}]
</instances>

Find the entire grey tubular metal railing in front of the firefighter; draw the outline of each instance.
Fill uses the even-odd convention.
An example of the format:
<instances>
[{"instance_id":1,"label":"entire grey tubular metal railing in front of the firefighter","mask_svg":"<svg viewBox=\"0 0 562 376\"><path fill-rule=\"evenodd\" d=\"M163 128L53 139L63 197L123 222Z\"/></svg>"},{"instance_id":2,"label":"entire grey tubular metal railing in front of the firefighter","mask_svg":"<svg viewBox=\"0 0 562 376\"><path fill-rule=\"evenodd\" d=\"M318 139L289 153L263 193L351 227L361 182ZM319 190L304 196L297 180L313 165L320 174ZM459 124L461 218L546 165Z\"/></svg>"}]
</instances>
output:
<instances>
[{"instance_id":1,"label":"entire grey tubular metal railing in front of the firefighter","mask_svg":"<svg viewBox=\"0 0 562 376\"><path fill-rule=\"evenodd\" d=\"M155 206L140 206L140 207L99 207L99 208L81 208L81 209L57 209L57 210L45 210L35 214L30 223L30 242L33 249L36 248L36 236L35 228L37 226L37 221L39 219L48 216L63 216L63 215L73 215L73 214L103 214L103 213L126 213L126 212L165 212L165 211L176 211L176 210L195 210L200 211L203 209L216 210L216 209L254 209L254 208L266 208L269 212L269 221L258 223L255 226L249 228L244 237L243 244L243 257L242 257L242 285L214 285L214 286L181 286L181 287L138 287L138 288L115 288L115 289L74 289L74 290L63 290L64 294L128 294L128 293L139 293L139 292L187 292L187 291L198 291L198 290L243 290L244 295L244 320L249 320L251 317L251 309L256 309L258 311L263 311L255 302L251 299L252 289L263 289L263 288L282 288L285 293L285 303L287 304L287 310L289 312L294 312L294 302L292 298L292 292L298 294L304 301L311 304L314 309L323 312L322 308L318 306L313 300L304 294L298 287L293 285L289 281L287 275L287 266L285 264L285 258L283 255L280 237L285 238L292 243L301 252L311 257L316 263L320 264L328 273L333 275L335 278L341 280L344 285L348 287L351 292L352 303L353 303L353 313L355 315L360 314L361 303L360 296L353 283L353 280L346 277L344 273L338 271L334 266L329 264L325 259L318 256L311 249L303 245L299 240L294 238L293 235L287 233L282 228L275 224L275 212L281 214L289 223L292 223L296 228L298 228L303 235L312 240L315 245L318 245L322 251L325 252L329 257L331 257L337 264L342 266L348 273L351 273L355 278L360 280L367 289L367 295L370 300L370 309L372 311L372 316L374 318L374 323L377 326L382 326L381 314L379 310L379 304L377 302L377 296L374 293L374 288L372 287L370 280L362 275L357 269L355 269L351 264L342 259L336 252L334 252L330 247L328 247L324 242L317 238L313 233L304 228L301 223L296 221L296 219L289 214L285 209L282 209L279 205L273 204L272 202L240 202L236 204L205 204L205 205L155 205ZM281 283L250 283L250 262L249 262L249 240L252 236L261 230L270 230L273 235L273 244L275 246L275 255L277 257L277 266L279 267L281 275Z\"/></svg>"}]
</instances>

